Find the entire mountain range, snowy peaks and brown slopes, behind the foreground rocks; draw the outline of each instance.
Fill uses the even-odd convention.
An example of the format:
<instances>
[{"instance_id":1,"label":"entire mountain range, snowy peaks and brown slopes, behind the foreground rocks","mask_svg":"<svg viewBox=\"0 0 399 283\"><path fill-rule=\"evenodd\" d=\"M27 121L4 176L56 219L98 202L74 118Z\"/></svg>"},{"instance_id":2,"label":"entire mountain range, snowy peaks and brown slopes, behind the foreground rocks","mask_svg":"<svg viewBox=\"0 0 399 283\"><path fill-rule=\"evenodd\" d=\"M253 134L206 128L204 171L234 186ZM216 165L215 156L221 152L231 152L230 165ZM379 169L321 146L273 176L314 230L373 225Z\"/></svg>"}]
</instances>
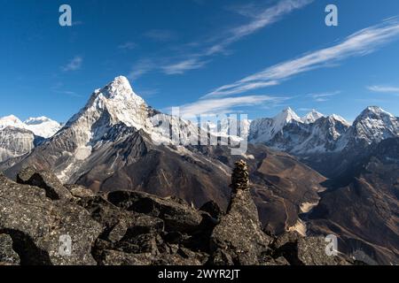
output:
<instances>
[{"instance_id":1,"label":"entire mountain range, snowy peaks and brown slopes, behind the foreground rocks","mask_svg":"<svg viewBox=\"0 0 399 283\"><path fill-rule=\"evenodd\" d=\"M221 136L239 142L230 119L200 129L148 106L124 77L93 92L62 127L46 118L0 121L0 171L11 178L33 166L93 191L175 195L196 207L213 200L225 210L231 168L244 158L265 231L336 233L350 255L398 263L399 119L378 107L352 124L317 111L300 118L290 108L272 119L233 121L250 142L241 156L206 145Z\"/></svg>"}]
</instances>

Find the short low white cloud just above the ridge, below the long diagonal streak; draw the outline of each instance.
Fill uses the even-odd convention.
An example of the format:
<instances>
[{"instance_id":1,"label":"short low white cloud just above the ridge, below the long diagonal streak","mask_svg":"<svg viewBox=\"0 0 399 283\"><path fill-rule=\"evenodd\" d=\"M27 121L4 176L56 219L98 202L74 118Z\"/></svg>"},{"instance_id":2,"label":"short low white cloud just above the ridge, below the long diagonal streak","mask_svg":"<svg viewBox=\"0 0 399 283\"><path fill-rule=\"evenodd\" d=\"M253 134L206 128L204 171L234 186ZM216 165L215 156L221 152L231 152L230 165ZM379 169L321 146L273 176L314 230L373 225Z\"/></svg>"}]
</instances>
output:
<instances>
[{"instance_id":1,"label":"short low white cloud just above the ridge, below the long diagonal streak","mask_svg":"<svg viewBox=\"0 0 399 283\"><path fill-rule=\"evenodd\" d=\"M273 96L240 96L217 99L204 99L195 103L180 106L180 114L184 119L192 119L199 115L215 115L232 112L235 107L260 105L262 103L279 103L286 97Z\"/></svg>"}]
</instances>

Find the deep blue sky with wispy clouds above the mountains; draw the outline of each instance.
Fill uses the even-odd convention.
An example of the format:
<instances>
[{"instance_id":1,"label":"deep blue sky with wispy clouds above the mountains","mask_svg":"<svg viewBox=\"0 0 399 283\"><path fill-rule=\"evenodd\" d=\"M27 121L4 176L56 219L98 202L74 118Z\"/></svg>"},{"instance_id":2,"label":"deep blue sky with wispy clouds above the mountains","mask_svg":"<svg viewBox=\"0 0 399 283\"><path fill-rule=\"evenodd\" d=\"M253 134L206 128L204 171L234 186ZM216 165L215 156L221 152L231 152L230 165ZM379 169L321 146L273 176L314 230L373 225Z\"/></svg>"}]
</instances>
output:
<instances>
[{"instance_id":1,"label":"deep blue sky with wispy clouds above the mountains","mask_svg":"<svg viewBox=\"0 0 399 283\"><path fill-rule=\"evenodd\" d=\"M397 0L0 0L0 116L66 121L125 75L186 114L399 116ZM73 27L59 26L70 4ZM325 26L336 4L339 26Z\"/></svg>"}]
</instances>

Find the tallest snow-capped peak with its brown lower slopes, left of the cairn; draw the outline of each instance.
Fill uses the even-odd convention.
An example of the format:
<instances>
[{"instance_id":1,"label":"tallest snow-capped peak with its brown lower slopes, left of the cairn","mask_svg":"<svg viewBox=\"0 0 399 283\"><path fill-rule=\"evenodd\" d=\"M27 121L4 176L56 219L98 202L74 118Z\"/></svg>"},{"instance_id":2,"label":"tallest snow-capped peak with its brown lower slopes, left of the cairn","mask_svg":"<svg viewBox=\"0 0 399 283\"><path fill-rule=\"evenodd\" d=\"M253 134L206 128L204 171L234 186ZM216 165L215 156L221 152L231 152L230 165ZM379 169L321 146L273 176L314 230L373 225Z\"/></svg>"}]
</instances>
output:
<instances>
[{"instance_id":1,"label":"tallest snow-capped peak with its brown lower slopes, left of the cairn","mask_svg":"<svg viewBox=\"0 0 399 283\"><path fill-rule=\"evenodd\" d=\"M227 205L230 166L190 146L198 144L198 134L197 125L153 110L126 78L117 77L96 90L57 134L0 170L14 178L33 166L92 190L144 190L196 205L209 199Z\"/></svg>"}]
</instances>

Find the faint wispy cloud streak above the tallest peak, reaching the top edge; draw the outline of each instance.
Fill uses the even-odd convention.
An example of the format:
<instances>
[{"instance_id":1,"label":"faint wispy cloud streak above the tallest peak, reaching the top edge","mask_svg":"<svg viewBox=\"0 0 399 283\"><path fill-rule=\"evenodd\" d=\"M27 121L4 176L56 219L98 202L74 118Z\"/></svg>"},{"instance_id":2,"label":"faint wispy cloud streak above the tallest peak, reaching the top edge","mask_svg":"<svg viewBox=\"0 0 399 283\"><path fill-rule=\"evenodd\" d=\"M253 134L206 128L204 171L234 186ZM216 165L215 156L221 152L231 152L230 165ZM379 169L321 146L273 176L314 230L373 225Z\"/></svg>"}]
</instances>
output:
<instances>
[{"instance_id":1,"label":"faint wispy cloud streak above the tallest peak, reaching the top edge","mask_svg":"<svg viewBox=\"0 0 399 283\"><path fill-rule=\"evenodd\" d=\"M168 75L183 74L187 71L196 70L204 67L216 55L231 54L228 47L244 37L254 34L264 27L268 27L280 19L283 19L292 11L312 3L314 0L279 0L277 4L270 4L265 7L264 4L251 6L251 12L241 13L248 10L250 5L236 6L233 11L241 13L249 18L243 25L229 27L218 31L217 36L207 37L207 39L198 40L198 42L189 42L184 46L176 47L178 54L172 57L163 57L154 59L157 64L153 64L150 71L160 71ZM176 39L176 33L168 30L154 29L145 33L145 36L158 42L168 42ZM184 51L182 51L182 49ZM145 73L140 73L143 75ZM137 76L138 77L138 76ZM137 78L136 77L136 78Z\"/></svg>"}]
</instances>

